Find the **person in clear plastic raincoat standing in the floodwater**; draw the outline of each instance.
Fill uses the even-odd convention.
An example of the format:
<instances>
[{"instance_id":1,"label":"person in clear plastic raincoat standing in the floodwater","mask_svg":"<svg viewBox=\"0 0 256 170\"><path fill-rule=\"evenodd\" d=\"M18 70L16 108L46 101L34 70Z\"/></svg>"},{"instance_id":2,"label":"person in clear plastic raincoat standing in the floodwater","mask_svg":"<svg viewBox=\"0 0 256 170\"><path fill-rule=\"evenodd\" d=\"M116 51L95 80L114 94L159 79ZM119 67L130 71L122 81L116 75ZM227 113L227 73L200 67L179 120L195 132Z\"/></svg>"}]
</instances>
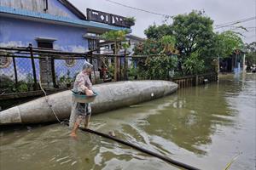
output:
<instances>
[{"instance_id":1,"label":"person in clear plastic raincoat standing in the floodwater","mask_svg":"<svg viewBox=\"0 0 256 170\"><path fill-rule=\"evenodd\" d=\"M91 90L92 84L89 78L92 67L93 65L91 65L87 61L84 61L83 70L79 72L73 84L74 93L86 94L87 96L93 95L93 92ZM77 136L76 133L80 125L85 128L88 127L90 122L90 114L90 103L78 103L74 99L72 99L72 111L69 118L69 127L73 127L73 129L70 136Z\"/></svg>"}]
</instances>

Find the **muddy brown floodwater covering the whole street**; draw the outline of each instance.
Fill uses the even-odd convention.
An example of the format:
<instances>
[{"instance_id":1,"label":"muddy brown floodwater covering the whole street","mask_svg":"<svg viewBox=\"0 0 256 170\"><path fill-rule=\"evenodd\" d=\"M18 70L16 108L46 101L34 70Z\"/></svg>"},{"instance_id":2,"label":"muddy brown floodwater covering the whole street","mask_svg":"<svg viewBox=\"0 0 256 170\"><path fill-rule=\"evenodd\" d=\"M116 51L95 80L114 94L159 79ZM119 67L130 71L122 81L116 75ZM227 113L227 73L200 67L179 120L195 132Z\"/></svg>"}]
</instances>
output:
<instances>
[{"instance_id":1,"label":"muddy brown floodwater covering the whole street","mask_svg":"<svg viewBox=\"0 0 256 170\"><path fill-rule=\"evenodd\" d=\"M201 169L255 169L256 74L91 117L90 128ZM0 127L0 169L177 169L153 156L65 125Z\"/></svg>"}]
</instances>

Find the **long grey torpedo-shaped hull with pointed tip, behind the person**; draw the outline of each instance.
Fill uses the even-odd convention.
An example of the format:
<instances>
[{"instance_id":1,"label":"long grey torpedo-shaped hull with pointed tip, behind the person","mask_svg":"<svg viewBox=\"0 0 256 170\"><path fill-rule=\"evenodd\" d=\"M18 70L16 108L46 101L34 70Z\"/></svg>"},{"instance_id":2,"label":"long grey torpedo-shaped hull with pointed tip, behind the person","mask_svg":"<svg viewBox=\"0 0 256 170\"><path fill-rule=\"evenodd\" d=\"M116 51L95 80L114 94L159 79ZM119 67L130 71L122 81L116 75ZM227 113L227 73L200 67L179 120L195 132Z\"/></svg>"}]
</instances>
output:
<instances>
[{"instance_id":1,"label":"long grey torpedo-shaped hull with pointed tip, behind the person","mask_svg":"<svg viewBox=\"0 0 256 170\"><path fill-rule=\"evenodd\" d=\"M167 81L109 82L95 85L93 90L99 94L91 103L92 114L96 114L172 94L177 91L177 84ZM69 118L72 105L70 90L47 98L34 99L0 112L0 125L55 122L51 108L59 119Z\"/></svg>"}]
</instances>

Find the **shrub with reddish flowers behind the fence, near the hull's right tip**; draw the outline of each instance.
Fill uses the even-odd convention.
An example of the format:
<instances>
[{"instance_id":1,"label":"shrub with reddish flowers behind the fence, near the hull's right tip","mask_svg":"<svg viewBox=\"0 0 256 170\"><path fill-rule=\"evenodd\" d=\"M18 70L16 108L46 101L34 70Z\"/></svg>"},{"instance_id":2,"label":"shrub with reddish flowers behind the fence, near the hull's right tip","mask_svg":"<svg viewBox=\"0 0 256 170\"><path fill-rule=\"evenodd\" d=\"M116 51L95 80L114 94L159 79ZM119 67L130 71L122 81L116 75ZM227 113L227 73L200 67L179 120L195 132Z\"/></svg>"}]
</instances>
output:
<instances>
[{"instance_id":1,"label":"shrub with reddish flowers behind the fence, near the hull's right tip","mask_svg":"<svg viewBox=\"0 0 256 170\"><path fill-rule=\"evenodd\" d=\"M167 35L160 39L147 39L135 47L135 54L156 54L138 60L139 77L144 79L168 79L169 71L177 67L176 40Z\"/></svg>"}]
</instances>

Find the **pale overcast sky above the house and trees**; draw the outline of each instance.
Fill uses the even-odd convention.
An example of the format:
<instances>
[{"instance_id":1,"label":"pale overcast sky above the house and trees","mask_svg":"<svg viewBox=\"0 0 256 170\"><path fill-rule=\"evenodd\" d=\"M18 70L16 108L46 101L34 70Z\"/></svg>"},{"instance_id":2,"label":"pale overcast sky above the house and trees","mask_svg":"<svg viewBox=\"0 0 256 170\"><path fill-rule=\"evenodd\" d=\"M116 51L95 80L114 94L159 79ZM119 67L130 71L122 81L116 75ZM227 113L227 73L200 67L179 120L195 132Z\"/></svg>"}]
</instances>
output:
<instances>
[{"instance_id":1,"label":"pale overcast sky above the house and trees","mask_svg":"<svg viewBox=\"0 0 256 170\"><path fill-rule=\"evenodd\" d=\"M86 14L86 8L93 8L104 12L119 14L122 16L134 16L135 26L132 26L132 34L145 37L143 31L148 26L163 23L164 17L156 14L148 14L132 8L125 8L106 0L69 0L79 10ZM143 8L160 14L177 15L191 12L193 9L203 9L207 16L214 20L214 25L224 24L230 21L247 19L256 16L256 0L113 0L135 8ZM240 31L245 37L245 42L256 41L256 20L250 20L236 26L249 27L248 32ZM224 31L228 28L218 29Z\"/></svg>"}]
</instances>

